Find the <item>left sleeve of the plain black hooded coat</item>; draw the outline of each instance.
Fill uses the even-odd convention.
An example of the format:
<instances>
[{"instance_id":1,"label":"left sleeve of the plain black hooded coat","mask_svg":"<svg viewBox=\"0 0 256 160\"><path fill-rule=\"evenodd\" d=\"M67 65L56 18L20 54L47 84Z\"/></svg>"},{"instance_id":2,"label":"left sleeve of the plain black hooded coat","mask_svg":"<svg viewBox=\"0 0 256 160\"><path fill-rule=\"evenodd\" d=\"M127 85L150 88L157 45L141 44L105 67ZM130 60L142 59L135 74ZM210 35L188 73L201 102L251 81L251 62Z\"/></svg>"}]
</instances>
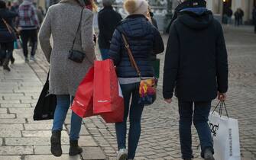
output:
<instances>
[{"instance_id":1,"label":"left sleeve of the plain black hooded coat","mask_svg":"<svg viewBox=\"0 0 256 160\"><path fill-rule=\"evenodd\" d=\"M180 43L175 25L170 27L170 37L167 43L167 51L164 61L164 98L173 97L173 88L177 80L178 69L180 66Z\"/></svg>"}]
</instances>

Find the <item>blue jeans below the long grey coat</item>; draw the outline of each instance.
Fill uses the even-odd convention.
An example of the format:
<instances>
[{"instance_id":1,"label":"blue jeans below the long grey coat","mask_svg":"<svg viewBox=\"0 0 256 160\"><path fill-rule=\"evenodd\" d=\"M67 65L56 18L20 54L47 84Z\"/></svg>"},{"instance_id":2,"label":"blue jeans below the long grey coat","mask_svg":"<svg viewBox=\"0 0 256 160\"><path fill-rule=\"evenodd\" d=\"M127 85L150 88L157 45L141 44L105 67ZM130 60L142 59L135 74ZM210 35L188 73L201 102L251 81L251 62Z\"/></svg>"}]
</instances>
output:
<instances>
[{"instance_id":1,"label":"blue jeans below the long grey coat","mask_svg":"<svg viewBox=\"0 0 256 160\"><path fill-rule=\"evenodd\" d=\"M54 113L53 131L62 130L63 123L66 119L67 111L73 102L74 97L70 95L57 95L57 106ZM78 140L81 130L82 118L72 112L71 126L70 126L70 139Z\"/></svg>"}]
</instances>

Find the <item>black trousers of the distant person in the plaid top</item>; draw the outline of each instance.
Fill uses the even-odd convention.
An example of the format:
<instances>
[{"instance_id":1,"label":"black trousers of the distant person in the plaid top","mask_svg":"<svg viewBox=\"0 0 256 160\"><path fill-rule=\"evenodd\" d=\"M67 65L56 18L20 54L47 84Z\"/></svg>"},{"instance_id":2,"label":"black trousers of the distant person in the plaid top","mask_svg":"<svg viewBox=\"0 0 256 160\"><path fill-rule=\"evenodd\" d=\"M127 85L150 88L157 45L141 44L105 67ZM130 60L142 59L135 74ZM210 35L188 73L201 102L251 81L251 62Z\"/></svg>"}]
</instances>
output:
<instances>
[{"instance_id":1,"label":"black trousers of the distant person in the plaid top","mask_svg":"<svg viewBox=\"0 0 256 160\"><path fill-rule=\"evenodd\" d=\"M37 29L34 30L21 30L21 40L23 54L28 58L28 40L31 41L31 56L34 56L37 50Z\"/></svg>"}]
</instances>

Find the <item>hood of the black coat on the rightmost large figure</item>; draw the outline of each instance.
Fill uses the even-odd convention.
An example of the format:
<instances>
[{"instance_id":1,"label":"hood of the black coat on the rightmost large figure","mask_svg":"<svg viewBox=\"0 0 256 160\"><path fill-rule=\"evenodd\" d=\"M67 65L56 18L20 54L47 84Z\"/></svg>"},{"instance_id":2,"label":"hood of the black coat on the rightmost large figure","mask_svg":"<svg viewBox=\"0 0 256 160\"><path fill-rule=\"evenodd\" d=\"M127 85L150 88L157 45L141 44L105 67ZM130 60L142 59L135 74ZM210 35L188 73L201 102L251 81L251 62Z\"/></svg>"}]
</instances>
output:
<instances>
[{"instance_id":1,"label":"hood of the black coat on the rightmost large figure","mask_svg":"<svg viewBox=\"0 0 256 160\"><path fill-rule=\"evenodd\" d=\"M209 27L213 21L212 11L180 11L178 14L178 20L181 21L186 27L190 27L193 30L203 30Z\"/></svg>"}]
</instances>

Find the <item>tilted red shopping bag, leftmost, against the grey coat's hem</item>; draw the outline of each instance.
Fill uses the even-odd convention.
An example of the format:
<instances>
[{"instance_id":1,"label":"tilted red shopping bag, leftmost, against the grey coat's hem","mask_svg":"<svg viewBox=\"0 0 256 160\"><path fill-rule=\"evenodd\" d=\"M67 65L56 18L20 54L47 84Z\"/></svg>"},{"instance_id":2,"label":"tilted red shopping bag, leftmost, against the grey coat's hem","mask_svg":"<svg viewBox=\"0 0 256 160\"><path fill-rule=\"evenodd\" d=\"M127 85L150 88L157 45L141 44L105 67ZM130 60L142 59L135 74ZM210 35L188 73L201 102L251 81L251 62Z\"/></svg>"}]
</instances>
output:
<instances>
[{"instance_id":1,"label":"tilted red shopping bag, leftmost, against the grey coat's hem","mask_svg":"<svg viewBox=\"0 0 256 160\"><path fill-rule=\"evenodd\" d=\"M73 100L71 110L79 117L91 117L93 107L93 78L94 68L92 67L87 72L83 81L79 84L76 91L76 96Z\"/></svg>"}]
</instances>

